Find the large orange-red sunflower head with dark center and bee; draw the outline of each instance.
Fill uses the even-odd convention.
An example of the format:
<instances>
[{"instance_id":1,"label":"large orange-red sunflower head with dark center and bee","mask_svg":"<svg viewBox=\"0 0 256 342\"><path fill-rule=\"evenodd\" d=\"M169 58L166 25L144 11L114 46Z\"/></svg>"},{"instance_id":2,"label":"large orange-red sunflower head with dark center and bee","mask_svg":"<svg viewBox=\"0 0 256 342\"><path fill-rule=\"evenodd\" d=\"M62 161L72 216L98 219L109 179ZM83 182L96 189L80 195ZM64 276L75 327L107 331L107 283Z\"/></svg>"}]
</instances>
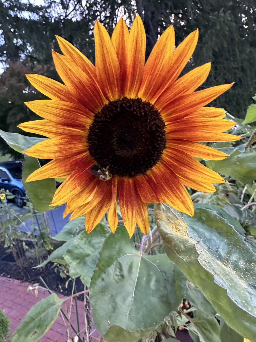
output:
<instances>
[{"instance_id":1,"label":"large orange-red sunflower head with dark center and bee","mask_svg":"<svg viewBox=\"0 0 256 342\"><path fill-rule=\"evenodd\" d=\"M87 232L108 211L114 233L119 201L129 235L136 224L146 234L148 202L166 202L193 215L185 186L214 192L212 183L225 182L194 157L224 159L227 154L199 142L240 139L223 133L235 124L223 119L224 109L204 107L232 84L195 92L207 78L210 63L178 78L194 52L198 30L175 48L173 26L168 27L146 64L146 36L139 15L130 32L120 19L111 38L96 21L94 36L95 66L57 36L63 55L53 51L53 60L64 84L27 75L51 100L26 103L44 120L18 127L49 139L24 153L52 159L27 182L66 177L52 205L67 203L64 215L72 212L71 219L86 214Z\"/></svg>"}]
</instances>

